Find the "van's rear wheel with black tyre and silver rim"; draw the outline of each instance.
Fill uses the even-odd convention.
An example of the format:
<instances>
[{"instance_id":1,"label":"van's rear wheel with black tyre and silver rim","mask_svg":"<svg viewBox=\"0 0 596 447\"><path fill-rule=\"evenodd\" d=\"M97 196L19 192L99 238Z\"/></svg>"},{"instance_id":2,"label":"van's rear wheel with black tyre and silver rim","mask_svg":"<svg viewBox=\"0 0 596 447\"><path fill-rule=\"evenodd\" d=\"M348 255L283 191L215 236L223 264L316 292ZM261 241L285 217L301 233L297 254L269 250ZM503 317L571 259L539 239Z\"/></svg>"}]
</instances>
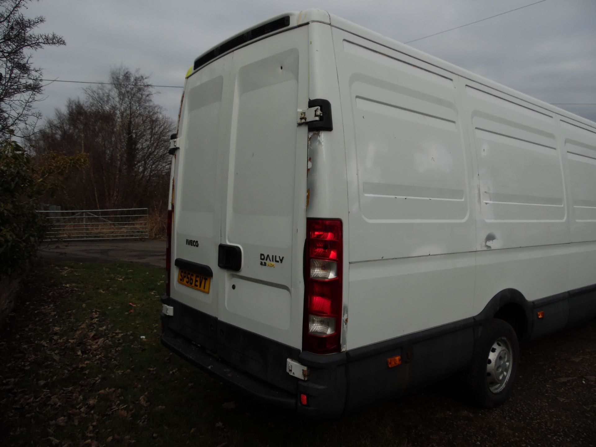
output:
<instances>
[{"instance_id":1,"label":"van's rear wheel with black tyre and silver rim","mask_svg":"<svg viewBox=\"0 0 596 447\"><path fill-rule=\"evenodd\" d=\"M516 378L519 343L510 324L492 319L474 346L469 381L471 397L482 408L507 401Z\"/></svg>"}]
</instances>

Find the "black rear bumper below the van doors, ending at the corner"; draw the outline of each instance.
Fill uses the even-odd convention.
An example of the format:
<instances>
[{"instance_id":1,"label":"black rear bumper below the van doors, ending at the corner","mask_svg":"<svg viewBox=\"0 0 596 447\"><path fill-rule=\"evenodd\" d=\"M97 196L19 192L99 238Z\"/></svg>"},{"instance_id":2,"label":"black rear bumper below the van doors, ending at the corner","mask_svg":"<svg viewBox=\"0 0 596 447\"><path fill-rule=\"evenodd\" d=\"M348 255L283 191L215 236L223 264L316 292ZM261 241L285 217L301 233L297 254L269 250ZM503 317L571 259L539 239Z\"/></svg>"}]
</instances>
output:
<instances>
[{"instance_id":1,"label":"black rear bumper below the van doors, ending at the corner","mask_svg":"<svg viewBox=\"0 0 596 447\"><path fill-rule=\"evenodd\" d=\"M206 373L253 398L312 417L337 417L346 403L346 353L316 355L226 324L169 297L162 344ZM285 370L291 358L309 368L308 380ZM308 405L300 403L300 394Z\"/></svg>"}]
</instances>

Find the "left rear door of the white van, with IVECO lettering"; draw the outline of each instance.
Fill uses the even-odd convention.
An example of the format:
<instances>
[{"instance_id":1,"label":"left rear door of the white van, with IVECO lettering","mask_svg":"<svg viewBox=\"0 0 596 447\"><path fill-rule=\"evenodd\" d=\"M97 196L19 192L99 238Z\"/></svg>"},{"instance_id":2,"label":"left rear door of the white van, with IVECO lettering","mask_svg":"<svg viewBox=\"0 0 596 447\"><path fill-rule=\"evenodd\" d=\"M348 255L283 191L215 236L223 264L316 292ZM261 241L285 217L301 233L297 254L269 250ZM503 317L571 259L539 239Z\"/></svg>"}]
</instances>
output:
<instances>
[{"instance_id":1,"label":"left rear door of the white van, with IVECO lettering","mask_svg":"<svg viewBox=\"0 0 596 447\"><path fill-rule=\"evenodd\" d=\"M221 115L224 105L226 58L187 81L182 105L181 150L175 179L174 252L182 259L209 266L213 271L209 293L179 284L179 268L173 268L172 295L185 305L217 315L219 290L218 241L221 225L221 194L218 193L218 161L221 145Z\"/></svg>"}]
</instances>

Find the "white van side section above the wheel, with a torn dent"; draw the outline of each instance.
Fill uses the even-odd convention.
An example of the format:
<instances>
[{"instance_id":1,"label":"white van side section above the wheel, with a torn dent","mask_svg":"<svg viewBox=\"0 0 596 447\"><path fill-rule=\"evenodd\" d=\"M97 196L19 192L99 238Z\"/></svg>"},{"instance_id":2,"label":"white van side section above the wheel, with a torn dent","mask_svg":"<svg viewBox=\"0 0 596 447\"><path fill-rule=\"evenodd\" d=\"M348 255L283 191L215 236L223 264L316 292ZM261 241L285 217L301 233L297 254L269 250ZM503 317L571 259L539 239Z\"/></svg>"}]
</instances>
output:
<instances>
[{"instance_id":1,"label":"white van side section above the wheel, with a torn dent","mask_svg":"<svg viewBox=\"0 0 596 447\"><path fill-rule=\"evenodd\" d=\"M569 191L557 117L471 80L461 84L478 197L470 315L507 288L529 301L566 292ZM552 328L567 322L566 312L556 313Z\"/></svg>"}]
</instances>

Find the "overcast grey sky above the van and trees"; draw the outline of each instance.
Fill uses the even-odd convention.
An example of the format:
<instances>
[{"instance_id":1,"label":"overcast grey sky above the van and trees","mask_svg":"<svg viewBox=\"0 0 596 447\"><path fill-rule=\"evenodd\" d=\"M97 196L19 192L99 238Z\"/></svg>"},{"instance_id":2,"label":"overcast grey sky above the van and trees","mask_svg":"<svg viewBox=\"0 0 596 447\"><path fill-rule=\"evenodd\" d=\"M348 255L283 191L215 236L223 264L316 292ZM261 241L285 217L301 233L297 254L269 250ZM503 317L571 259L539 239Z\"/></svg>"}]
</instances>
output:
<instances>
[{"instance_id":1,"label":"overcast grey sky above the van and trees","mask_svg":"<svg viewBox=\"0 0 596 447\"><path fill-rule=\"evenodd\" d=\"M45 32L66 46L33 55L45 79L107 80L110 67L140 69L157 85L179 85L194 59L259 21L323 8L406 42L519 8L536 0L42 0ZM596 103L596 0L546 0L443 33L412 46L548 103ZM44 116L82 97L81 84L46 86ZM159 88L156 102L175 117L182 89ZM561 105L596 121L596 105Z\"/></svg>"}]
</instances>

